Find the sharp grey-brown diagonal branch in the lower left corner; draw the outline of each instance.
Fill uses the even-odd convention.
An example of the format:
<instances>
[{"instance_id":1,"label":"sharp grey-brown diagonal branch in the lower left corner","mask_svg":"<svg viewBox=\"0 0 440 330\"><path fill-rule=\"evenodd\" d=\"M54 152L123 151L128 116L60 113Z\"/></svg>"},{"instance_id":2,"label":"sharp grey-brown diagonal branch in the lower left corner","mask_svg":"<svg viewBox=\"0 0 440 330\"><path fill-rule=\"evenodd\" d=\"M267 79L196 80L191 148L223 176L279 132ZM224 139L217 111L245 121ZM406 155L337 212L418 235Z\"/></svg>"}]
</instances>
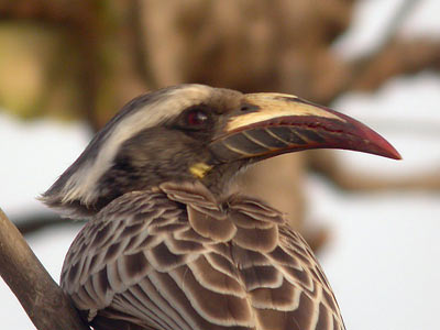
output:
<instances>
[{"instance_id":1,"label":"sharp grey-brown diagonal branch in the lower left corner","mask_svg":"<svg viewBox=\"0 0 440 330\"><path fill-rule=\"evenodd\" d=\"M1 209L0 275L38 330L89 330Z\"/></svg>"}]
</instances>

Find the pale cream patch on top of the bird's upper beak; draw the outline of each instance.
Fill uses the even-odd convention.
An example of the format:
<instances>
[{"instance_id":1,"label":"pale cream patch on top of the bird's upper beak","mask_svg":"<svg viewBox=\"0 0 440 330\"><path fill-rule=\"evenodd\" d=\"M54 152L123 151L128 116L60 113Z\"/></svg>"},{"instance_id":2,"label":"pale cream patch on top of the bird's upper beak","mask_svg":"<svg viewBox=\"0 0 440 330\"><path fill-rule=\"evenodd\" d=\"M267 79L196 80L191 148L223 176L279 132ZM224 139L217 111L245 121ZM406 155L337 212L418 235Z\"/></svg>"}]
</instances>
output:
<instances>
[{"instance_id":1,"label":"pale cream patch on top of the bird's upper beak","mask_svg":"<svg viewBox=\"0 0 440 330\"><path fill-rule=\"evenodd\" d=\"M296 96L276 92L246 95L245 100L252 105L258 106L261 110L232 117L229 120L226 130L229 132L253 123L289 116L317 116L345 121L337 114L321 108L295 101L297 99Z\"/></svg>"}]
</instances>

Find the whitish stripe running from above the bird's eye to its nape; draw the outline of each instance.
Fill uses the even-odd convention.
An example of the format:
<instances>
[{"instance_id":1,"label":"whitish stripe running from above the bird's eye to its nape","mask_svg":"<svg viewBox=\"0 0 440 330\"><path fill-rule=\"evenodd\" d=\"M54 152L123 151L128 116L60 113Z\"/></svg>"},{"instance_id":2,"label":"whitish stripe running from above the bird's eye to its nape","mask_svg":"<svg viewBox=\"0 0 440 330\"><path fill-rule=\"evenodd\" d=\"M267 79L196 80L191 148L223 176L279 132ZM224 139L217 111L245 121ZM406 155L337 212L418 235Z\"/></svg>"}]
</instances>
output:
<instances>
[{"instance_id":1,"label":"whitish stripe running from above the bird's eye to its nape","mask_svg":"<svg viewBox=\"0 0 440 330\"><path fill-rule=\"evenodd\" d=\"M105 136L97 157L85 162L67 180L62 194L63 202L80 200L91 205L98 198L97 183L112 166L121 145L140 133L168 119L177 117L184 109L209 98L212 88L204 85L187 85L172 89L155 102L146 103L142 109L121 118L120 122Z\"/></svg>"}]
</instances>

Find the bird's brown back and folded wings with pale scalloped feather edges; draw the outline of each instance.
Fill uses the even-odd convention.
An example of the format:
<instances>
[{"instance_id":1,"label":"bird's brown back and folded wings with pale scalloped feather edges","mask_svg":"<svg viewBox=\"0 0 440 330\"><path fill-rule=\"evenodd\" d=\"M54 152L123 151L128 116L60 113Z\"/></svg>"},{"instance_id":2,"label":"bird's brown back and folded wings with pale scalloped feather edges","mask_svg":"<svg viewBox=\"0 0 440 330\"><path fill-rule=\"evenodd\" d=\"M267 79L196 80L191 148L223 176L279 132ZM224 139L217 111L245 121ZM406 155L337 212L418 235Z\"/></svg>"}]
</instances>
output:
<instances>
[{"instance_id":1,"label":"bird's brown back and folded wings with pale scalloped feather edges","mask_svg":"<svg viewBox=\"0 0 440 330\"><path fill-rule=\"evenodd\" d=\"M276 210L201 185L109 205L74 241L62 286L89 320L140 329L344 329L304 240ZM133 328L134 329L134 328Z\"/></svg>"}]
</instances>

